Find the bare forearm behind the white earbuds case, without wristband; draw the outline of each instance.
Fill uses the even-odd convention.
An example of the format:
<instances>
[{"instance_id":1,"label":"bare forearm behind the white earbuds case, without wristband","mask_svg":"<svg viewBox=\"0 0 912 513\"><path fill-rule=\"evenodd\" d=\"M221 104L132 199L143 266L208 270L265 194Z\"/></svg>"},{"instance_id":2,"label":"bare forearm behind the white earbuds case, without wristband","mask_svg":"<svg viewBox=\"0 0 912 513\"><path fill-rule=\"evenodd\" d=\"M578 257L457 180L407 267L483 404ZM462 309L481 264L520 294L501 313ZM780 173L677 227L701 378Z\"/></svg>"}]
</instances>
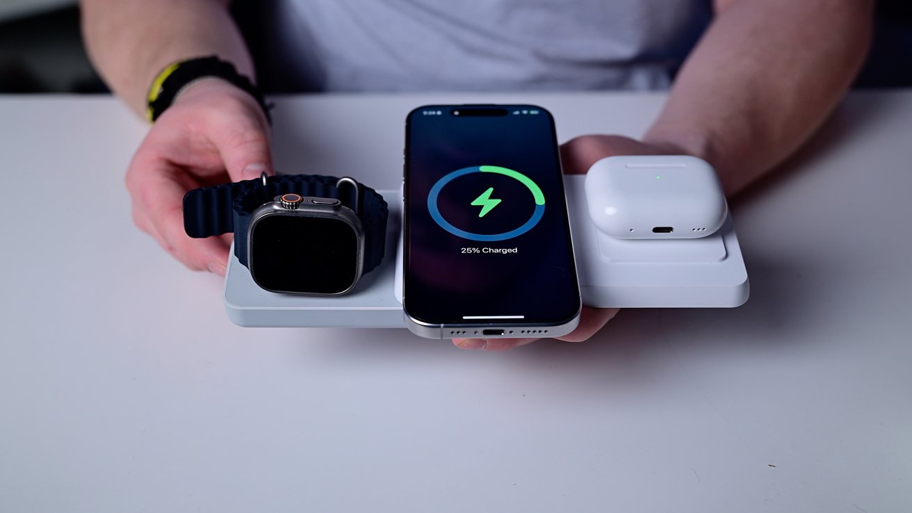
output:
<instances>
[{"instance_id":1,"label":"bare forearm behind the white earbuds case, without wristband","mask_svg":"<svg viewBox=\"0 0 912 513\"><path fill-rule=\"evenodd\" d=\"M707 159L738 193L801 146L845 94L867 52L872 6L728 2L644 140Z\"/></svg>"}]
</instances>

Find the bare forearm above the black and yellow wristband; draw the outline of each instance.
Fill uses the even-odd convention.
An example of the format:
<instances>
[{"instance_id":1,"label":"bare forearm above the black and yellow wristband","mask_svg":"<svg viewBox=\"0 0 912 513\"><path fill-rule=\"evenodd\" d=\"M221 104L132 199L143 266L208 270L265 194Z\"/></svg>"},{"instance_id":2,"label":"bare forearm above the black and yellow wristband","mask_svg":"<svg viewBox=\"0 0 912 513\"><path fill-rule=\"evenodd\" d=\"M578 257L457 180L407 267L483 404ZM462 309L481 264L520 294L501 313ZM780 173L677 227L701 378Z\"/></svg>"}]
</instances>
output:
<instances>
[{"instance_id":1,"label":"bare forearm above the black and yellow wristband","mask_svg":"<svg viewBox=\"0 0 912 513\"><path fill-rule=\"evenodd\" d=\"M109 87L143 115L155 76L174 61L218 55L254 78L228 0L81 0L88 55Z\"/></svg>"}]
</instances>

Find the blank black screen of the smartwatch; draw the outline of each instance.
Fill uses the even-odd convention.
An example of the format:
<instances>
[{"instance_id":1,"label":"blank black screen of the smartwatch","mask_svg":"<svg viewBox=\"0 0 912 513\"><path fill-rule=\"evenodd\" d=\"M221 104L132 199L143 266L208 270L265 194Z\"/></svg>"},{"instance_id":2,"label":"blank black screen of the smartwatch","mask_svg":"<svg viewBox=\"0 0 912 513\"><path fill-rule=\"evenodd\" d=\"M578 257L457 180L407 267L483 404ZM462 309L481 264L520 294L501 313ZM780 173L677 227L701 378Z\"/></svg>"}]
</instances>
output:
<instances>
[{"instance_id":1,"label":"blank black screen of the smartwatch","mask_svg":"<svg viewBox=\"0 0 912 513\"><path fill-rule=\"evenodd\" d=\"M268 290L340 294L358 278L358 235L340 219L266 215L250 245L250 272Z\"/></svg>"}]
</instances>

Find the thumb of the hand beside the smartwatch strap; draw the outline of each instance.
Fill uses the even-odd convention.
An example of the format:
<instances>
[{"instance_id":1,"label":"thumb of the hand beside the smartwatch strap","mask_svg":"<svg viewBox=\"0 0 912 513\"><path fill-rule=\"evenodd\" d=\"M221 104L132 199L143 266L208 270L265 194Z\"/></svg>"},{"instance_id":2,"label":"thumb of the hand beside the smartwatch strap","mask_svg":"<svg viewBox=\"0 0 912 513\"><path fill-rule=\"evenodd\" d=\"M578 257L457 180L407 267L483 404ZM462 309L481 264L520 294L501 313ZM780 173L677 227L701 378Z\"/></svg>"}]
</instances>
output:
<instances>
[{"instance_id":1,"label":"thumb of the hand beside the smartwatch strap","mask_svg":"<svg viewBox=\"0 0 912 513\"><path fill-rule=\"evenodd\" d=\"M260 120L223 125L213 142L232 182L254 180L261 173L275 174L269 135Z\"/></svg>"}]
</instances>

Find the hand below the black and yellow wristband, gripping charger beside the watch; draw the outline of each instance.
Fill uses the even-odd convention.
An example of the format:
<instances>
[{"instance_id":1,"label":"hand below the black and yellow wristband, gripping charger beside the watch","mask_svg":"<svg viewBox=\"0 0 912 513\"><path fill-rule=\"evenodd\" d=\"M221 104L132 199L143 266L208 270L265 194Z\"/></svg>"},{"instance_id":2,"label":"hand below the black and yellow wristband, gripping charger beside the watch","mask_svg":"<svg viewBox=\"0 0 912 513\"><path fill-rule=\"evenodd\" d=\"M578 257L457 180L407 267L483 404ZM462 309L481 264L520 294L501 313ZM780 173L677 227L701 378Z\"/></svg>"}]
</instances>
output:
<instances>
[{"instance_id":1,"label":"hand below the black and yellow wristband, gripping charger beside the watch","mask_svg":"<svg viewBox=\"0 0 912 513\"><path fill-rule=\"evenodd\" d=\"M161 114L130 162L133 222L185 266L224 275L231 234L187 236L183 195L274 174L272 162L269 123L256 100L223 80L202 79Z\"/></svg>"}]
</instances>

